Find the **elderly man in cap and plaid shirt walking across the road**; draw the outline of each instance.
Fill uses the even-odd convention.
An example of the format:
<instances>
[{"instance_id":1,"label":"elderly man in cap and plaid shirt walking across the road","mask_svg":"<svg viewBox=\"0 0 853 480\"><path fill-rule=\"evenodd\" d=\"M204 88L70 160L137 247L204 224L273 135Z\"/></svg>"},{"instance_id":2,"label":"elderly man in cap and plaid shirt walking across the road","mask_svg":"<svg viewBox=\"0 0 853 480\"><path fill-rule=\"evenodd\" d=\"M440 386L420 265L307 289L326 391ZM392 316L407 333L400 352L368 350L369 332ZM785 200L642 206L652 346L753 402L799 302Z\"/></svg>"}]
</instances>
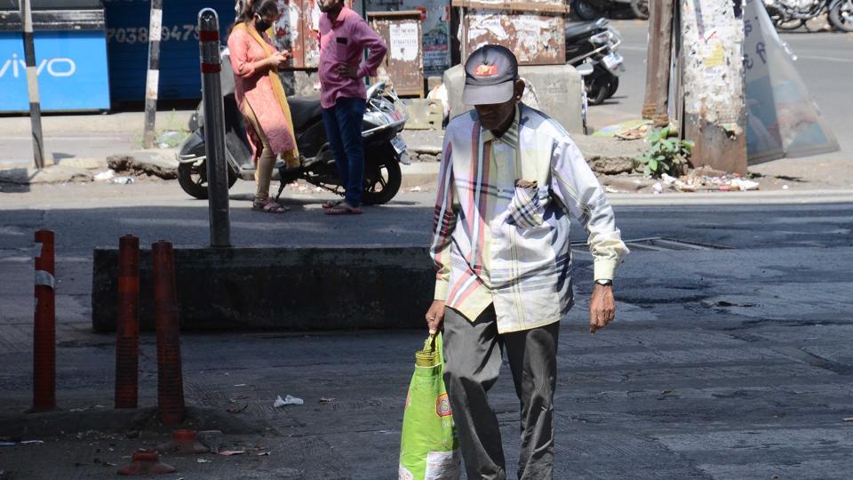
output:
<instances>
[{"instance_id":1,"label":"elderly man in cap and plaid shirt walking across the road","mask_svg":"<svg viewBox=\"0 0 853 480\"><path fill-rule=\"evenodd\" d=\"M506 478L488 401L506 352L521 401L518 477L552 478L560 320L572 301L570 218L594 255L590 332L613 320L613 277L628 250L593 172L560 124L521 103L513 52L466 61L474 110L444 135L430 253L438 274L431 331L444 328L444 382L468 478Z\"/></svg>"}]
</instances>

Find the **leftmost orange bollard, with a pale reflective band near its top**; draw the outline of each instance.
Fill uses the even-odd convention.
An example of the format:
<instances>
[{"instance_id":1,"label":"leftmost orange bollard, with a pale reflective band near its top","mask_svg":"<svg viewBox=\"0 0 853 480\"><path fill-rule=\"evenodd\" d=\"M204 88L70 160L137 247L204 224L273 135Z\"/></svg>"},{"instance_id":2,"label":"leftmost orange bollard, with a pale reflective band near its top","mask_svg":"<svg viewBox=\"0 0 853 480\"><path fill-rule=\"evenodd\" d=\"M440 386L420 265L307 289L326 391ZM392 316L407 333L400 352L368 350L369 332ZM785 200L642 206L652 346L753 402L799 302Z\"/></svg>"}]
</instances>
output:
<instances>
[{"instance_id":1,"label":"leftmost orange bollard, with a pale reflective band near its top","mask_svg":"<svg viewBox=\"0 0 853 480\"><path fill-rule=\"evenodd\" d=\"M53 232L36 231L36 316L33 322L33 407L56 408L56 304Z\"/></svg>"}]
</instances>

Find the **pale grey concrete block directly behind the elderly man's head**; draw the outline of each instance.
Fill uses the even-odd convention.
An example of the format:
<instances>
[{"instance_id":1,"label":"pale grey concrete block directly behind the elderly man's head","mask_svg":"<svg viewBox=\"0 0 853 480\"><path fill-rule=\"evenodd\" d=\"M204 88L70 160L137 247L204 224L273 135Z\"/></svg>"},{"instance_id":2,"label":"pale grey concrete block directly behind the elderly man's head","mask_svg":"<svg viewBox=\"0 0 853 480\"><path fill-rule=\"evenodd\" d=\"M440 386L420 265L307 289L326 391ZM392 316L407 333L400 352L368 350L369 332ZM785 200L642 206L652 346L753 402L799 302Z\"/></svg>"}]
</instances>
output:
<instances>
[{"instance_id":1,"label":"pale grey concrete block directly behind the elderly man's head","mask_svg":"<svg viewBox=\"0 0 853 480\"><path fill-rule=\"evenodd\" d=\"M532 84L538 110L560 122L570 133L584 132L581 97L583 80L578 70L571 65L522 65L518 68L518 74ZM457 65L445 70L444 84L447 86L451 118L473 108L462 103L464 66Z\"/></svg>"}]
</instances>

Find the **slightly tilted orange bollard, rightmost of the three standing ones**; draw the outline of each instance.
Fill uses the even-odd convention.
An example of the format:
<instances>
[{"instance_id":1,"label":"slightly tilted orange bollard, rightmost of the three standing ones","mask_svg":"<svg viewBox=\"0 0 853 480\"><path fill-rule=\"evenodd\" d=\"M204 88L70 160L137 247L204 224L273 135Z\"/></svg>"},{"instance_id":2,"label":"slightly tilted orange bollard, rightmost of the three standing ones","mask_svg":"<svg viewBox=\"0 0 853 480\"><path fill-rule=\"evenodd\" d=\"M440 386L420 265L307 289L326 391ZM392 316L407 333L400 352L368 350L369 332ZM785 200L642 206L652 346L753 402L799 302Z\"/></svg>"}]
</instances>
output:
<instances>
[{"instance_id":1,"label":"slightly tilted orange bollard, rightmost of the three standing ones","mask_svg":"<svg viewBox=\"0 0 853 480\"><path fill-rule=\"evenodd\" d=\"M180 327L171 242L151 245L154 260L154 311L157 331L157 414L163 425L184 420L184 382L180 368Z\"/></svg>"}]
</instances>

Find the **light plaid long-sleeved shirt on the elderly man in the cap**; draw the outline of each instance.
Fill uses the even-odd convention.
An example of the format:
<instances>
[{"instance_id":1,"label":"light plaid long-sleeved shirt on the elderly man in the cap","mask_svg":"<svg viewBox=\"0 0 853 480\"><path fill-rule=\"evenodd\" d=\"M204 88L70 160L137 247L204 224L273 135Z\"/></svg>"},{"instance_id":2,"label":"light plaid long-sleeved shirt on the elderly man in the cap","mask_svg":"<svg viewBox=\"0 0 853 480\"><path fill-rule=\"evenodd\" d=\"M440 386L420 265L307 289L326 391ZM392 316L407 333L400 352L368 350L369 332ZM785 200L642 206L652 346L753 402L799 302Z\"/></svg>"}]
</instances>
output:
<instances>
[{"instance_id":1,"label":"light plaid long-sleeved shirt on the elderly man in the cap","mask_svg":"<svg viewBox=\"0 0 853 480\"><path fill-rule=\"evenodd\" d=\"M453 118L430 245L434 299L471 321L494 304L501 333L558 322L573 303L570 218L589 233L594 279L612 279L628 249L562 126L523 104L499 138L475 110Z\"/></svg>"}]
</instances>

